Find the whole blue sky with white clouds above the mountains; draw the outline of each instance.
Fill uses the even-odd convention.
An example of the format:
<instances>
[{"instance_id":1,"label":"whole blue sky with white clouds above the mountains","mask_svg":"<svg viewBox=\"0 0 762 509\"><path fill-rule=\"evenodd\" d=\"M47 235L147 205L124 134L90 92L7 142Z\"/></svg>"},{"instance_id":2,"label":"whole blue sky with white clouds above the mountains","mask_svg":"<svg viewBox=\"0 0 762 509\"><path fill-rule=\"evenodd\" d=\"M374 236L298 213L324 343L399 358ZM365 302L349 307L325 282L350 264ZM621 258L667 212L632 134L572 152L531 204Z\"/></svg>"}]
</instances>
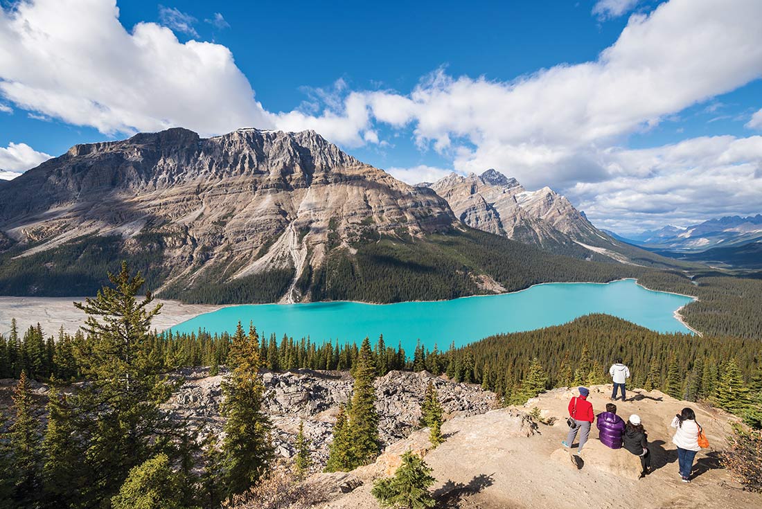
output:
<instances>
[{"instance_id":1,"label":"whole blue sky with white clouds above the mountains","mask_svg":"<svg viewBox=\"0 0 762 509\"><path fill-rule=\"evenodd\" d=\"M0 5L5 178L139 130L312 128L411 183L495 167L621 232L762 210L755 0Z\"/></svg>"}]
</instances>

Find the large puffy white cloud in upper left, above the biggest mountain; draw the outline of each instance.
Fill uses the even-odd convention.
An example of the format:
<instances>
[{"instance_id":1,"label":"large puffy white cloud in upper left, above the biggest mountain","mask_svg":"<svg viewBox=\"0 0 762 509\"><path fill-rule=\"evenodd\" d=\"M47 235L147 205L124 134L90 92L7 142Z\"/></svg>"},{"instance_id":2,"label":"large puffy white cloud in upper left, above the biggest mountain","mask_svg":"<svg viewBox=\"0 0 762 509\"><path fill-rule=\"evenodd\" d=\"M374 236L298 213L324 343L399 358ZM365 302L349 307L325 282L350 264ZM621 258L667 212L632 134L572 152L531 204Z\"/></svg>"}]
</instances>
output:
<instances>
[{"instance_id":1,"label":"large puffy white cloud in upper left, above the biggest mountain","mask_svg":"<svg viewBox=\"0 0 762 509\"><path fill-rule=\"evenodd\" d=\"M230 50L139 23L114 0L36 0L0 9L0 95L102 133L184 126L204 135L271 127Z\"/></svg>"}]
</instances>

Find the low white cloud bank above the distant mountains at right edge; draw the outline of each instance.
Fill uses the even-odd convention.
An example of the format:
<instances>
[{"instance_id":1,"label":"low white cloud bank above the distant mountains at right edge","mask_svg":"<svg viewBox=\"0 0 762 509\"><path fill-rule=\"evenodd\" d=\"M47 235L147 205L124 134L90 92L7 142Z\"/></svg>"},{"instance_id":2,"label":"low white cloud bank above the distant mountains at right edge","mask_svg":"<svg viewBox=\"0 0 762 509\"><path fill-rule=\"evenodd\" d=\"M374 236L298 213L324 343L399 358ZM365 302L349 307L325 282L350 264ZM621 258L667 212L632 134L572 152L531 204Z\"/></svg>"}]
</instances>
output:
<instances>
[{"instance_id":1,"label":"low white cloud bank above the distant mountains at right edge","mask_svg":"<svg viewBox=\"0 0 762 509\"><path fill-rule=\"evenodd\" d=\"M610 178L579 182L567 193L604 228L687 226L762 210L762 136L703 136L652 149L606 149L596 157Z\"/></svg>"}]
</instances>

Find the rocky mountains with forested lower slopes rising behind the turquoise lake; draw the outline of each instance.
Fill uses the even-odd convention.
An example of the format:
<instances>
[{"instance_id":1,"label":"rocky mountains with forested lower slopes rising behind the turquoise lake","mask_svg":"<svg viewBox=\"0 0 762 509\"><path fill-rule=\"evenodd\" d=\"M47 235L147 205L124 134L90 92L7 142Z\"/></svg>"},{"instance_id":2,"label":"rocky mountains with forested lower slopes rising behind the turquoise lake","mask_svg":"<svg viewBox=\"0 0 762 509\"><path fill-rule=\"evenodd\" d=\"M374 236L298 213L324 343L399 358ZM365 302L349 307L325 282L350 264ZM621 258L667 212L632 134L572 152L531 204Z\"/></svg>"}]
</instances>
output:
<instances>
[{"instance_id":1,"label":"rocky mountains with forested lower slopes rising behind the turquoise lake","mask_svg":"<svg viewBox=\"0 0 762 509\"><path fill-rule=\"evenodd\" d=\"M459 216L475 202L464 224L434 189L313 131L175 128L78 145L0 187L0 294L91 295L120 260L160 296L207 303L450 299L634 274L612 262L635 257L595 247L616 242L552 190L494 171L466 179L483 210L456 202L466 181L432 185ZM467 226L490 213L499 235Z\"/></svg>"}]
</instances>

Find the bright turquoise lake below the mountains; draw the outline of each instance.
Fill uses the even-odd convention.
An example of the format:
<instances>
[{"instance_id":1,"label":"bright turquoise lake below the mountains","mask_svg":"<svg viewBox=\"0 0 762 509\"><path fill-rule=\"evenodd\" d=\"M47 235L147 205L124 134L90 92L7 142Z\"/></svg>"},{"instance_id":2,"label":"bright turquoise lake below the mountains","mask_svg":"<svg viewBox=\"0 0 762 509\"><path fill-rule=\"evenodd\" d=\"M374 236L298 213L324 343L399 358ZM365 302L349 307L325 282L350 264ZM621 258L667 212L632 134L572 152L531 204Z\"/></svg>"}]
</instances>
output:
<instances>
[{"instance_id":1,"label":"bright turquoise lake below the mountains","mask_svg":"<svg viewBox=\"0 0 762 509\"><path fill-rule=\"evenodd\" d=\"M607 313L661 332L690 333L674 317L693 298L646 290L635 280L612 283L548 283L516 293L461 299L363 304L350 302L259 304L229 306L198 315L171 328L176 332L234 332L238 322L253 322L260 335L287 334L322 343L338 339L376 341L383 334L388 345L402 341L405 351L416 342L447 348L501 332L530 331L571 322L590 313Z\"/></svg>"}]
</instances>

